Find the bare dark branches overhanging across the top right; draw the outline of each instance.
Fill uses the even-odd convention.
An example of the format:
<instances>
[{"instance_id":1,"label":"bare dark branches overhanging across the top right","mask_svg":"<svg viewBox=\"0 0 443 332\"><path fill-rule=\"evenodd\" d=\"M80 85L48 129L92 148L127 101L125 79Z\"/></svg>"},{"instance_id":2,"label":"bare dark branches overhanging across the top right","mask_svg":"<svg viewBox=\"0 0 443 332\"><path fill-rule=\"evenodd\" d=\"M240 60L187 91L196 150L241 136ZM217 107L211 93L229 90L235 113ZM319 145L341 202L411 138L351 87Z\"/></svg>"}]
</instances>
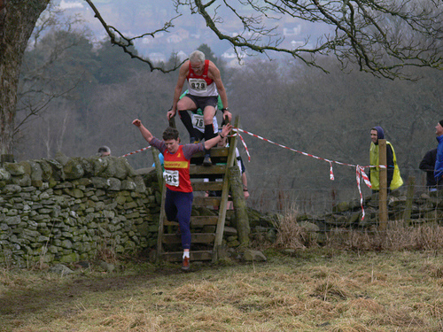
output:
<instances>
[{"instance_id":1,"label":"bare dark branches overhanging across the top right","mask_svg":"<svg viewBox=\"0 0 443 332\"><path fill-rule=\"evenodd\" d=\"M128 52L134 38L125 37L108 26L97 8L96 13L114 44ZM286 53L308 66L321 67L316 56L334 54L343 68L358 64L361 71L389 79L411 78L407 66L442 68L443 4L439 0L174 0L177 12L183 8L206 20L206 26L237 51ZM330 27L313 46L305 42L284 41L279 30L283 19L300 19ZM226 33L229 27L241 33ZM174 27L171 19L158 31ZM152 70L157 69L151 66ZM324 68L323 68L324 70Z\"/></svg>"}]
</instances>

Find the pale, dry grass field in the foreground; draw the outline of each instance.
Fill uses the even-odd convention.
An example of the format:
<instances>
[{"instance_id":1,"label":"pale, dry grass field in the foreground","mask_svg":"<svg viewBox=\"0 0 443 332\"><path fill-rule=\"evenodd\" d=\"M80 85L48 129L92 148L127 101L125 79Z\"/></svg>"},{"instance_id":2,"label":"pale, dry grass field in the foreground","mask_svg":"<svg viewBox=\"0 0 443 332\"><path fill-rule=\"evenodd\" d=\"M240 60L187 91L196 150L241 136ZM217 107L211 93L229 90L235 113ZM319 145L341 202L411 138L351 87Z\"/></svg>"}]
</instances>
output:
<instances>
[{"instance_id":1,"label":"pale, dry grass field in the foreground","mask_svg":"<svg viewBox=\"0 0 443 332\"><path fill-rule=\"evenodd\" d=\"M229 266L0 269L1 331L443 331L441 251L264 251Z\"/></svg>"}]
</instances>

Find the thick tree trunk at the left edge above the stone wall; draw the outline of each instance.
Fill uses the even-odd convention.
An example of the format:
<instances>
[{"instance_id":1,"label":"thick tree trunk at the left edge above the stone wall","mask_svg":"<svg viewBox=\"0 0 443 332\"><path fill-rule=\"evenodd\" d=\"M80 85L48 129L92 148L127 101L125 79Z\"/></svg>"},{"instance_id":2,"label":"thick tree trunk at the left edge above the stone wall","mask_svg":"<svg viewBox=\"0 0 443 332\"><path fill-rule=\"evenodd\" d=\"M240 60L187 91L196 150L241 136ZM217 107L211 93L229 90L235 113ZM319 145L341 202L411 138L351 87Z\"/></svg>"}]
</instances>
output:
<instances>
[{"instance_id":1,"label":"thick tree trunk at the left edge above the stone wall","mask_svg":"<svg viewBox=\"0 0 443 332\"><path fill-rule=\"evenodd\" d=\"M17 89L35 22L50 0L0 0L0 154L12 154Z\"/></svg>"}]
</instances>

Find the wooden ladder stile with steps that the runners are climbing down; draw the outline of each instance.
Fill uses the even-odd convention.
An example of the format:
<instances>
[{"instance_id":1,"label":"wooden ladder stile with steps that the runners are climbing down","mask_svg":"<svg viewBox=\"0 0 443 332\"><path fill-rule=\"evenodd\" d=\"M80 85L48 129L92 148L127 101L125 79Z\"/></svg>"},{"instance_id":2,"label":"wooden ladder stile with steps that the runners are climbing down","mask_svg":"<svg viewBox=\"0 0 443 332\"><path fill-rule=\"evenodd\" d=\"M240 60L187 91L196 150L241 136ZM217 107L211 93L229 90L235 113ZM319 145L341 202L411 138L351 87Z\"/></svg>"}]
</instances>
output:
<instances>
[{"instance_id":1,"label":"wooden ladder stile with steps that the runners are climbing down","mask_svg":"<svg viewBox=\"0 0 443 332\"><path fill-rule=\"evenodd\" d=\"M239 119L235 120L238 127ZM229 166L236 161L237 135L229 138L229 148L212 148L213 166L202 166L204 155L198 153L190 159L190 181L194 191L193 206L213 211L213 216L191 216L190 260L213 260L219 258L222 236L229 200ZM211 181L205 181L210 179ZM165 186L163 184L163 186ZM205 197L208 190L221 190L220 197ZM157 241L157 259L182 261L183 250L178 230L178 223L166 219L164 211L166 188L162 190L162 203L159 218L159 237ZM195 209L193 209L195 210ZM208 232L213 230L212 232Z\"/></svg>"}]
</instances>

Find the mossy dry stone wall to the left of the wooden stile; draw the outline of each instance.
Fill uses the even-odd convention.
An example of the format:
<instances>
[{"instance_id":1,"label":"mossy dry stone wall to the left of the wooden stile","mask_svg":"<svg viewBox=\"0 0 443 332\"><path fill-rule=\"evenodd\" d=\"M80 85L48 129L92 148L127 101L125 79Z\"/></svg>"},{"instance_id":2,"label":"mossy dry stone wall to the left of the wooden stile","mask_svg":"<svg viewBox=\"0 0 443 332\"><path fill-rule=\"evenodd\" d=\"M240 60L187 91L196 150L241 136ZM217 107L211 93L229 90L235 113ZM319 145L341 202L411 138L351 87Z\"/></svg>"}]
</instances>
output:
<instances>
[{"instance_id":1,"label":"mossy dry stone wall to the left of the wooden stile","mask_svg":"<svg viewBox=\"0 0 443 332\"><path fill-rule=\"evenodd\" d=\"M0 265L71 263L110 247L155 247L159 185L126 158L4 163L0 192Z\"/></svg>"}]
</instances>

